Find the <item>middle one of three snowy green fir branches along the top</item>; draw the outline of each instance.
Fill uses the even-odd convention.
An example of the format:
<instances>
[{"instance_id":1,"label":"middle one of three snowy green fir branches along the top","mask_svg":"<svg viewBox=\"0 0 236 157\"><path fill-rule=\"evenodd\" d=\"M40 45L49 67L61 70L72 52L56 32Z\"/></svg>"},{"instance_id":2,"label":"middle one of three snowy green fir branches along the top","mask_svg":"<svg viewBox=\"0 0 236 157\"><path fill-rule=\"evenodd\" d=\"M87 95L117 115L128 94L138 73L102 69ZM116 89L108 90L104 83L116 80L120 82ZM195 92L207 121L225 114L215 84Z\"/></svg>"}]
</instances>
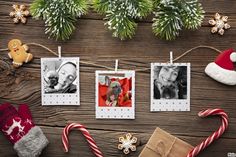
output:
<instances>
[{"instance_id":1,"label":"middle one of three snowy green fir branches along the top","mask_svg":"<svg viewBox=\"0 0 236 157\"><path fill-rule=\"evenodd\" d=\"M93 6L105 15L105 25L112 31L112 36L121 40L131 39L137 28L135 20L152 11L151 0L94 0Z\"/></svg>"}]
</instances>

